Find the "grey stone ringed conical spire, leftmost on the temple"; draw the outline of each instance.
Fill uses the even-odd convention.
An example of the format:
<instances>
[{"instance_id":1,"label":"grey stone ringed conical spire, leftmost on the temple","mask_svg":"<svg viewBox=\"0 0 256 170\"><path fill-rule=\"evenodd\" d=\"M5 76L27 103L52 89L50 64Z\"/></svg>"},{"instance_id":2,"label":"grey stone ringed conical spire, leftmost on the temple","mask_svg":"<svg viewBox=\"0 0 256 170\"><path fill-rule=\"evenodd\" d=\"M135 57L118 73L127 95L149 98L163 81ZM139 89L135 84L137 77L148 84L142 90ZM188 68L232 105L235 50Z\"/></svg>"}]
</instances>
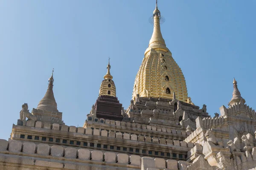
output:
<instances>
[{"instance_id":1,"label":"grey stone ringed conical spire, leftmost on the temple","mask_svg":"<svg viewBox=\"0 0 256 170\"><path fill-rule=\"evenodd\" d=\"M52 70L52 76L48 80L47 91L43 99L40 100L37 109L47 110L47 111L58 111L57 103L55 101L53 90L52 90L53 82L54 82L54 79L53 79L53 70Z\"/></svg>"}]
</instances>

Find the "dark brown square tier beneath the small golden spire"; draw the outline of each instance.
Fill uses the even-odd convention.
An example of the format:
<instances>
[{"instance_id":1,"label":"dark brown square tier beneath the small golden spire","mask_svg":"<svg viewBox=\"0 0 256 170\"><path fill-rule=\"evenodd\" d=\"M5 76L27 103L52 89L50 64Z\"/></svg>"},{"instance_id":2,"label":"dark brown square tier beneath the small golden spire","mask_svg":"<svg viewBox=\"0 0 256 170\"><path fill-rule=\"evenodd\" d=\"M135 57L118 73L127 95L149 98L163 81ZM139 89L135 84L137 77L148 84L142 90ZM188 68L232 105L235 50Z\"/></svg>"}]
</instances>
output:
<instances>
[{"instance_id":1,"label":"dark brown square tier beneath the small golden spire","mask_svg":"<svg viewBox=\"0 0 256 170\"><path fill-rule=\"evenodd\" d=\"M109 120L119 120L122 121L123 116L121 113L122 104L119 103L117 97L113 96L99 96L95 103L96 117L109 119Z\"/></svg>"}]
</instances>

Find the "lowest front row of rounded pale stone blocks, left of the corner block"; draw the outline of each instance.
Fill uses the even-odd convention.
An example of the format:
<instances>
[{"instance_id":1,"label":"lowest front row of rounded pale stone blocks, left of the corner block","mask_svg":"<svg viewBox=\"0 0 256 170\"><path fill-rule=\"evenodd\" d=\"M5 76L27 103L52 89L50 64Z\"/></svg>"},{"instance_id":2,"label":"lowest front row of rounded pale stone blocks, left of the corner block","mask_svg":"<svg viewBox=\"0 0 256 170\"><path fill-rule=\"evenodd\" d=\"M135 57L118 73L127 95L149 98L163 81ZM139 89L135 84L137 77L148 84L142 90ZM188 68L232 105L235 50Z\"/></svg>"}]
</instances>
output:
<instances>
[{"instance_id":1,"label":"lowest front row of rounded pale stone blocks, left of the corner block","mask_svg":"<svg viewBox=\"0 0 256 170\"><path fill-rule=\"evenodd\" d=\"M100 150L87 150L84 148L74 147L61 147L59 145L49 146L48 144L35 144L32 142L20 142L15 140L6 141L0 139L0 153L9 155L21 155L30 157L40 157L54 160L65 160L65 161L78 161L78 162L89 162L99 161L105 162L104 164L125 164L124 166L133 167L134 169L140 168L141 157L137 155L127 155L124 153L113 153L113 152L102 152ZM19 158L20 159L20 158ZM75 160L74 160L75 159ZM31 159L32 163L34 159ZM36 160L36 165L39 160ZM40 161L39 161L40 162ZM58 163L56 163L58 164ZM92 163L93 165L96 163ZM121 166L122 165L114 165ZM61 165L61 168L63 166Z\"/></svg>"}]
</instances>

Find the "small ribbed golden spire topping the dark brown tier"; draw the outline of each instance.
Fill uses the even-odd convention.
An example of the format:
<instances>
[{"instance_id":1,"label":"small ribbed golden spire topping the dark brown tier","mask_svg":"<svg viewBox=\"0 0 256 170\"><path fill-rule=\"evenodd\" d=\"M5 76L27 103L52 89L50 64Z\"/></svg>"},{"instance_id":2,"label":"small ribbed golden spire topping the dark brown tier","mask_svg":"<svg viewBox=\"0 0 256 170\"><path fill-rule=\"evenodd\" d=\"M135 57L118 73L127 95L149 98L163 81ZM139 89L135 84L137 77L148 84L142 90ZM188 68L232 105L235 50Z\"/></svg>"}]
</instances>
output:
<instances>
[{"instance_id":1,"label":"small ribbed golden spire topping the dark brown tier","mask_svg":"<svg viewBox=\"0 0 256 170\"><path fill-rule=\"evenodd\" d=\"M116 97L116 86L114 81L112 80L113 77L110 74L110 64L108 59L108 65L107 65L107 74L103 77L104 80L102 81L100 88L99 88L99 96L102 95L108 95L108 96L114 96Z\"/></svg>"}]
</instances>

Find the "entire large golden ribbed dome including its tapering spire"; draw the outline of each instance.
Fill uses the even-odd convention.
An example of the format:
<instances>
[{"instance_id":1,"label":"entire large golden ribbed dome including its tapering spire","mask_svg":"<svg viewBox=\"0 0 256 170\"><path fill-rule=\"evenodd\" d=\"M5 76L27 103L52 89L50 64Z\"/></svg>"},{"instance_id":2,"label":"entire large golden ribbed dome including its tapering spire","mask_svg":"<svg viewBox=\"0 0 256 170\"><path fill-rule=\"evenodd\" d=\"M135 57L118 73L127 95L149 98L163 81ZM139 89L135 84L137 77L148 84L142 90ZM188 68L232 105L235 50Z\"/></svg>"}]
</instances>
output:
<instances>
[{"instance_id":1,"label":"entire large golden ribbed dome including its tapering spire","mask_svg":"<svg viewBox=\"0 0 256 170\"><path fill-rule=\"evenodd\" d=\"M159 15L154 15L154 31L134 82L133 99L137 94L141 97L173 99L173 92L178 100L187 102L185 78L166 47Z\"/></svg>"}]
</instances>

